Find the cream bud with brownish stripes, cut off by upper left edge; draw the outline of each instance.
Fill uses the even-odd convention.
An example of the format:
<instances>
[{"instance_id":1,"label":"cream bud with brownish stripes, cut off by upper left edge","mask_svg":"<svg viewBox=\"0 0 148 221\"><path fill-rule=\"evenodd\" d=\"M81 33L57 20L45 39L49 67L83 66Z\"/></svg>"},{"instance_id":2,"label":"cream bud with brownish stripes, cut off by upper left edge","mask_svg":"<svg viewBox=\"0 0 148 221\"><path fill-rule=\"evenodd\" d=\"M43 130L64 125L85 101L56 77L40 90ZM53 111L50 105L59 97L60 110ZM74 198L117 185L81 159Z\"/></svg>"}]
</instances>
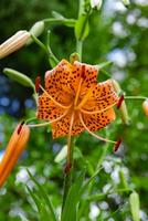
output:
<instances>
[{"instance_id":1,"label":"cream bud with brownish stripes, cut off by upper left edge","mask_svg":"<svg viewBox=\"0 0 148 221\"><path fill-rule=\"evenodd\" d=\"M0 59L21 49L30 39L31 34L28 31L18 31L14 35L8 39L0 45Z\"/></svg>"}]
</instances>

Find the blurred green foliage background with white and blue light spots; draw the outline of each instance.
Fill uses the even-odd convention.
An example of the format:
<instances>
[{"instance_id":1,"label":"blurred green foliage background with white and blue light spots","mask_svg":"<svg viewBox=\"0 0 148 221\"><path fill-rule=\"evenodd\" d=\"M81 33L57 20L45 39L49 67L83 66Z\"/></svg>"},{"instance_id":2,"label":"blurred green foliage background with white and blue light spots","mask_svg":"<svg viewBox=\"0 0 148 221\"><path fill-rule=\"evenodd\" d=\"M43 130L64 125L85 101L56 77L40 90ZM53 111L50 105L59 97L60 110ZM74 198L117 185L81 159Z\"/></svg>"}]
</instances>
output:
<instances>
[{"instance_id":1,"label":"blurred green foliage background with white and blue light spots","mask_svg":"<svg viewBox=\"0 0 148 221\"><path fill-rule=\"evenodd\" d=\"M0 1L0 43L19 30L29 30L35 21L50 18L53 10L66 18L77 18L77 1L68 0L1 0ZM127 95L148 96L148 2L133 0L125 8L119 0L104 0L101 11L91 15L91 33L84 42L83 61L97 64L110 60L114 64L106 70L116 78ZM54 54L62 60L68 60L75 51L75 38L72 28L51 25L51 46ZM45 41L46 32L40 40ZM35 104L32 92L18 83L10 81L2 73L3 67L15 69L34 81L38 74L44 77L50 70L44 52L32 43L28 48L9 55L0 62L0 155L9 140L17 123L22 118L34 116ZM101 73L99 80L106 80ZM148 118L141 107L141 101L127 102L130 125L117 120L109 125L107 134L113 139L123 138L123 145L117 154L110 146L104 159L101 175L94 182L93 192L105 192L119 187L119 171L123 170L128 185L140 196L140 217L148 220ZM105 131L101 131L105 135ZM38 220L32 209L32 201L25 183L32 187L25 167L36 177L51 196L54 206L60 209L63 187L63 164L55 164L54 158L65 138L53 140L51 130L33 129L28 149L24 151L18 167L0 189L0 221ZM88 171L97 165L104 144L83 133L76 141L81 149ZM76 156L75 167L80 170L83 161ZM118 210L117 210L118 209ZM117 210L117 211L116 211ZM95 213L95 212L96 213ZM116 211L116 213L114 213ZM113 215L112 215L113 214ZM129 221L128 194L115 193L103 200L93 201L82 213L82 221L87 220Z\"/></svg>"}]
</instances>

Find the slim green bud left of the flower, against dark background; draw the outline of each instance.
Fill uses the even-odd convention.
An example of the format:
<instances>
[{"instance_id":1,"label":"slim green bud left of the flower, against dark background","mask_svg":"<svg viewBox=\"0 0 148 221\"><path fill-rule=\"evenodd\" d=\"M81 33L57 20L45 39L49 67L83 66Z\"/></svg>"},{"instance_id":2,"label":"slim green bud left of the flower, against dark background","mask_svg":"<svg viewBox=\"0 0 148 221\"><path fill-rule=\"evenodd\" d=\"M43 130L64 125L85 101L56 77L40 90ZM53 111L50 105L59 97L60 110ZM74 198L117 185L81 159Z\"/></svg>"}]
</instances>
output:
<instances>
[{"instance_id":1,"label":"slim green bud left of the flower, against dark background","mask_svg":"<svg viewBox=\"0 0 148 221\"><path fill-rule=\"evenodd\" d=\"M34 84L31 81L31 78L24 74L22 74L21 72L18 72L15 70L12 69L4 69L3 73L9 76L10 78L12 78L13 81L22 84L23 86L28 86L28 87L32 87L34 88Z\"/></svg>"}]
</instances>

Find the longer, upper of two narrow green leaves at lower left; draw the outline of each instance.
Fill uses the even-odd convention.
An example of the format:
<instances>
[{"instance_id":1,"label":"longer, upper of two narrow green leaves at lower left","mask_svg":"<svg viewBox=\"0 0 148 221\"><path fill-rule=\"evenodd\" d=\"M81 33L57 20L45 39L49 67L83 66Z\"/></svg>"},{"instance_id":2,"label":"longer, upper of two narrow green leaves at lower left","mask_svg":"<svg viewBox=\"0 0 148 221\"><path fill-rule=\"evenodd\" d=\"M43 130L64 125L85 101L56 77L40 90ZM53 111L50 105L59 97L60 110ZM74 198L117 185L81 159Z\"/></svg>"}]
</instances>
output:
<instances>
[{"instance_id":1,"label":"longer, upper of two narrow green leaves at lower left","mask_svg":"<svg viewBox=\"0 0 148 221\"><path fill-rule=\"evenodd\" d=\"M38 187L38 191L39 193L42 196L42 198L44 199L46 207L49 208L49 210L51 211L51 215L53 218L54 221L57 221L56 219L56 214L54 212L54 208L53 204L47 196L47 193L45 192L45 190L43 189L43 187L35 180L35 178L31 175L31 172L28 170L28 173L31 178L31 180L35 183L35 186Z\"/></svg>"}]
</instances>

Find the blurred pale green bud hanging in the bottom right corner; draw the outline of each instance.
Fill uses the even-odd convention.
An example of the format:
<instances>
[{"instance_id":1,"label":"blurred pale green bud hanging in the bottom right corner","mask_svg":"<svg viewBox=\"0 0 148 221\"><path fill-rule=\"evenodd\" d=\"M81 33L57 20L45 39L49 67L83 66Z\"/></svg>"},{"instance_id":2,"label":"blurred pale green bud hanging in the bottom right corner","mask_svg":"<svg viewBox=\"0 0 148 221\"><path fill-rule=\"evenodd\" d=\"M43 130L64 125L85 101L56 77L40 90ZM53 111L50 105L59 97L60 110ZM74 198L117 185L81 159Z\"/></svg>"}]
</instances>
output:
<instances>
[{"instance_id":1,"label":"blurred pale green bud hanging in the bottom right corner","mask_svg":"<svg viewBox=\"0 0 148 221\"><path fill-rule=\"evenodd\" d=\"M130 211L134 221L139 221L139 212L140 212L140 202L139 202L139 194L137 192L133 192L129 196L129 203L130 203Z\"/></svg>"}]
</instances>

